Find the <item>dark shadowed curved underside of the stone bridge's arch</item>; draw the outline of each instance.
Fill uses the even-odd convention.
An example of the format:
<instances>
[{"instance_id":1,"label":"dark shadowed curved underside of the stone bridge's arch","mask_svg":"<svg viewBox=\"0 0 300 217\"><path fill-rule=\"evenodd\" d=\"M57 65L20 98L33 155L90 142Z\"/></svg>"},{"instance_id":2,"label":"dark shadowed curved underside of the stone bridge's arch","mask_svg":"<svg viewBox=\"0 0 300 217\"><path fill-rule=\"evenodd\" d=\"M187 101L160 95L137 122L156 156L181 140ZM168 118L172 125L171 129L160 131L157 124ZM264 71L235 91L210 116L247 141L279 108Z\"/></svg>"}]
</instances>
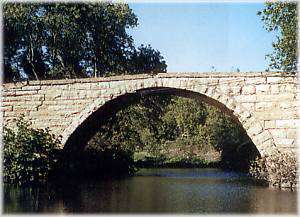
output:
<instances>
[{"instance_id":1,"label":"dark shadowed curved underside of the stone bridge's arch","mask_svg":"<svg viewBox=\"0 0 300 217\"><path fill-rule=\"evenodd\" d=\"M241 129L244 130L245 134L247 134L246 130L243 128L243 125L239 121L238 117L234 114L234 111L227 108L226 105L219 102L216 99L213 99L204 94L185 90L178 88L169 88L169 87L151 87L151 88L143 88L136 90L133 93L125 93L123 95L117 96L114 99L111 99L101 105L98 109L92 112L78 127L72 132L72 134L68 137L65 146L64 152L73 152L73 151L82 151L88 141L97 133L100 126L104 124L108 118L115 115L121 109L124 109L132 104L138 103L142 97L155 95L155 94L169 94L175 95L185 98L194 99L199 102L204 102L209 105L215 106L220 109L224 114L231 117L231 119L241 126ZM249 137L249 142L252 142ZM245 143L246 144L246 143ZM245 145L242 144L242 145ZM260 155L259 150L255 147L257 155Z\"/></svg>"}]
</instances>

